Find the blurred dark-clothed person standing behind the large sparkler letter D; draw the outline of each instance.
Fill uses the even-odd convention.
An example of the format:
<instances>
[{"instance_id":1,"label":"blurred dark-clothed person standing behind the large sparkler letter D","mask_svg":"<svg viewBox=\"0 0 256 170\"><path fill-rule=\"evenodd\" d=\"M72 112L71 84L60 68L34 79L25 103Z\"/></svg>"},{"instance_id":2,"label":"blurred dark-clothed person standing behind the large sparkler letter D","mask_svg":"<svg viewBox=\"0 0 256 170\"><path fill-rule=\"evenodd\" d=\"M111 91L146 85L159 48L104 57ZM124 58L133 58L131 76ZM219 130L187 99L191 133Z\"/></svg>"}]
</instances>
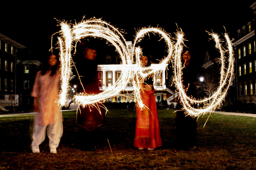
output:
<instances>
[{"instance_id":1,"label":"blurred dark-clothed person standing behind the large sparkler letter D","mask_svg":"<svg viewBox=\"0 0 256 170\"><path fill-rule=\"evenodd\" d=\"M91 42L90 42L91 43ZM74 73L73 84L77 84L78 93L89 95L100 93L97 72L97 51L94 45L81 43L82 53L75 56L75 66L78 73ZM81 49L80 49L81 50ZM105 124L106 110L102 104L95 106L79 106L77 124L81 127L79 132L79 144L82 150L94 151L97 140L101 136L100 127ZM100 110L100 112L99 112Z\"/></svg>"}]
</instances>

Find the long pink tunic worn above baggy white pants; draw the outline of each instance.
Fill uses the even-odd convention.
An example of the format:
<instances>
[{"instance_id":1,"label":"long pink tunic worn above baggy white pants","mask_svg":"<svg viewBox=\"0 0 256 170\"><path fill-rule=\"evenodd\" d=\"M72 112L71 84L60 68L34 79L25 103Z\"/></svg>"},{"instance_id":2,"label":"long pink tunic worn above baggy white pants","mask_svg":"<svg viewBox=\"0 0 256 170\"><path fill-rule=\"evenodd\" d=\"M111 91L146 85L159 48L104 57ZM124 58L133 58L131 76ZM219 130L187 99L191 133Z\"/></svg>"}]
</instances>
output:
<instances>
[{"instance_id":1,"label":"long pink tunic worn above baggy white pants","mask_svg":"<svg viewBox=\"0 0 256 170\"><path fill-rule=\"evenodd\" d=\"M53 76L51 76L50 73L51 71L47 71L45 75L42 75L41 71L36 73L31 94L31 96L38 98L38 110L36 110L35 124L40 126L54 124L56 115L60 111L60 106L56 103L60 73L56 71Z\"/></svg>"}]
</instances>

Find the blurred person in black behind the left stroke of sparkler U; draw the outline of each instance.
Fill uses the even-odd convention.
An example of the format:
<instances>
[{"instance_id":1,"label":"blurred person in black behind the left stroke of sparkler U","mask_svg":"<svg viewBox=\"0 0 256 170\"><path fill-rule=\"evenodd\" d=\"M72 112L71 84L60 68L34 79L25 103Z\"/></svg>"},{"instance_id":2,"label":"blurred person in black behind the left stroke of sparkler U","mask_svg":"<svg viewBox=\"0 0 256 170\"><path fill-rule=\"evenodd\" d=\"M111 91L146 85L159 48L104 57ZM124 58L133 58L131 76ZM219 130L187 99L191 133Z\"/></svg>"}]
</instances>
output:
<instances>
[{"instance_id":1,"label":"blurred person in black behind the left stroke of sparkler U","mask_svg":"<svg viewBox=\"0 0 256 170\"><path fill-rule=\"evenodd\" d=\"M191 55L188 50L182 53L182 62L185 67L183 68L182 83L184 89L187 89L186 94L189 97L197 97L196 91L196 68L191 60ZM193 105L197 108L197 105ZM196 118L186 116L185 111L182 110L182 103L178 99L176 105L176 142L177 148L181 150L194 150L196 149Z\"/></svg>"}]
</instances>

